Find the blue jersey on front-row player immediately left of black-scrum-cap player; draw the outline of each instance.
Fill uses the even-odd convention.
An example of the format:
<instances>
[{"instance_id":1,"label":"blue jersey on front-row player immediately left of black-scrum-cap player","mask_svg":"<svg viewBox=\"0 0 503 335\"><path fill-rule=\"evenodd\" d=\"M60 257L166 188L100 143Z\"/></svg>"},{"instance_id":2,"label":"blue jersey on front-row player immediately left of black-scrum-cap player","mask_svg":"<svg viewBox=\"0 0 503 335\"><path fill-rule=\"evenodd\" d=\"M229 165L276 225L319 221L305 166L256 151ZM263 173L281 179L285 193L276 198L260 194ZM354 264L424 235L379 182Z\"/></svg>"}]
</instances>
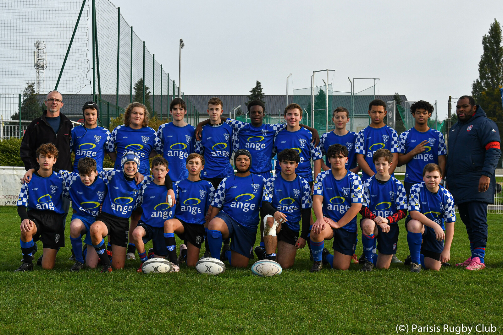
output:
<instances>
[{"instance_id":1,"label":"blue jersey on front-row player immediately left of black-scrum-cap player","mask_svg":"<svg viewBox=\"0 0 503 335\"><path fill-rule=\"evenodd\" d=\"M173 191L177 198L175 217L188 224L204 225L204 215L215 196L213 185L204 179L184 179L173 185Z\"/></svg>"}]
</instances>

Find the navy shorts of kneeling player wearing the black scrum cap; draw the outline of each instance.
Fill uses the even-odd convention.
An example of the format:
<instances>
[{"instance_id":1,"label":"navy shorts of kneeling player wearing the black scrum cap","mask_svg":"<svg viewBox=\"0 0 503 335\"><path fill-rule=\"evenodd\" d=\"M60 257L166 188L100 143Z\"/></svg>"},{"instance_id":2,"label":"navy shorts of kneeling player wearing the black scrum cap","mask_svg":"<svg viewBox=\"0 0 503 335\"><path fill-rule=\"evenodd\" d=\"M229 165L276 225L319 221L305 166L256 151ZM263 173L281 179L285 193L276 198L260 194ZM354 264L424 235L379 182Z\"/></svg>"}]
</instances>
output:
<instances>
[{"instance_id":1,"label":"navy shorts of kneeling player wearing the black scrum cap","mask_svg":"<svg viewBox=\"0 0 503 335\"><path fill-rule=\"evenodd\" d=\"M221 218L227 225L229 238L231 239L230 250L249 258L255 244L255 239L257 238L257 228L246 228L222 211L215 217Z\"/></svg>"}]
</instances>

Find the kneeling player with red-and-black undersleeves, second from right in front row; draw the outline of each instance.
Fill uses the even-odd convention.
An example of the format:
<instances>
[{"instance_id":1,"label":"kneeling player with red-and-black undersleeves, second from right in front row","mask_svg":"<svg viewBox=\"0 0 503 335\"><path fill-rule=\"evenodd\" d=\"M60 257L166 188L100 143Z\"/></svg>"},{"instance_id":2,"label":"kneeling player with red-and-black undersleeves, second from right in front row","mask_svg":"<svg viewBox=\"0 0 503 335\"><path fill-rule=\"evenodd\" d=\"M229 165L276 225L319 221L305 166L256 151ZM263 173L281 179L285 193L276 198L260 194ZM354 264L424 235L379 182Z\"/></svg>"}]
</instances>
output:
<instances>
[{"instance_id":1,"label":"kneeling player with red-and-black undersleeves, second from right in front row","mask_svg":"<svg viewBox=\"0 0 503 335\"><path fill-rule=\"evenodd\" d=\"M363 182L362 245L363 267L360 271L389 268L398 243L398 221L405 217L407 201L402 183L389 174L393 155L388 149L379 149L372 158L376 174ZM377 238L379 255L372 252ZM377 256L377 257L375 257Z\"/></svg>"}]
</instances>

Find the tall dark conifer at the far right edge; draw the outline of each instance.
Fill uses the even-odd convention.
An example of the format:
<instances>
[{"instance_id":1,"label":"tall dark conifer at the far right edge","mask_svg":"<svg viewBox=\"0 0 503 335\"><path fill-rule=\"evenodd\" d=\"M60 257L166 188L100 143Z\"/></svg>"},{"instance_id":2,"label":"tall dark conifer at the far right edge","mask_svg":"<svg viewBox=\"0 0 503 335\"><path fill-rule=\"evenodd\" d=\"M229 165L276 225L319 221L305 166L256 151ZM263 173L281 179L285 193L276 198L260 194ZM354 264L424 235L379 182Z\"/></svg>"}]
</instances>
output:
<instances>
[{"instance_id":1,"label":"tall dark conifer at the far right edge","mask_svg":"<svg viewBox=\"0 0 503 335\"><path fill-rule=\"evenodd\" d=\"M489 33L482 37L484 53L478 63L478 75L472 84L472 96L496 123L503 123L503 109L499 88L503 85L503 36L501 26L494 19L489 27Z\"/></svg>"}]
</instances>

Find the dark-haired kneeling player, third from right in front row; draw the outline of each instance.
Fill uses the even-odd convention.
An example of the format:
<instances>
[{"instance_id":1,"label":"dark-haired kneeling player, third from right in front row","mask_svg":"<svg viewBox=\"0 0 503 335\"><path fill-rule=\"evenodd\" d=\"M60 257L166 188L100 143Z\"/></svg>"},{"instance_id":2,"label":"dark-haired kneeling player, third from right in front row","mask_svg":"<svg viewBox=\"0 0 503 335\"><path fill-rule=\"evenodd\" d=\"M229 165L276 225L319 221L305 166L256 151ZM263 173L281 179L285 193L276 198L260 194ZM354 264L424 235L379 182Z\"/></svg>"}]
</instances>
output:
<instances>
[{"instance_id":1,"label":"dark-haired kneeling player, third from right in front row","mask_svg":"<svg viewBox=\"0 0 503 335\"><path fill-rule=\"evenodd\" d=\"M334 269L349 269L358 234L356 215L363 203L362 181L358 175L346 169L348 148L332 144L328 147L326 156L331 168L321 172L314 184L313 209L316 222L310 234L314 259L311 272L321 270L322 260ZM332 238L333 256L324 249L324 240Z\"/></svg>"}]
</instances>

